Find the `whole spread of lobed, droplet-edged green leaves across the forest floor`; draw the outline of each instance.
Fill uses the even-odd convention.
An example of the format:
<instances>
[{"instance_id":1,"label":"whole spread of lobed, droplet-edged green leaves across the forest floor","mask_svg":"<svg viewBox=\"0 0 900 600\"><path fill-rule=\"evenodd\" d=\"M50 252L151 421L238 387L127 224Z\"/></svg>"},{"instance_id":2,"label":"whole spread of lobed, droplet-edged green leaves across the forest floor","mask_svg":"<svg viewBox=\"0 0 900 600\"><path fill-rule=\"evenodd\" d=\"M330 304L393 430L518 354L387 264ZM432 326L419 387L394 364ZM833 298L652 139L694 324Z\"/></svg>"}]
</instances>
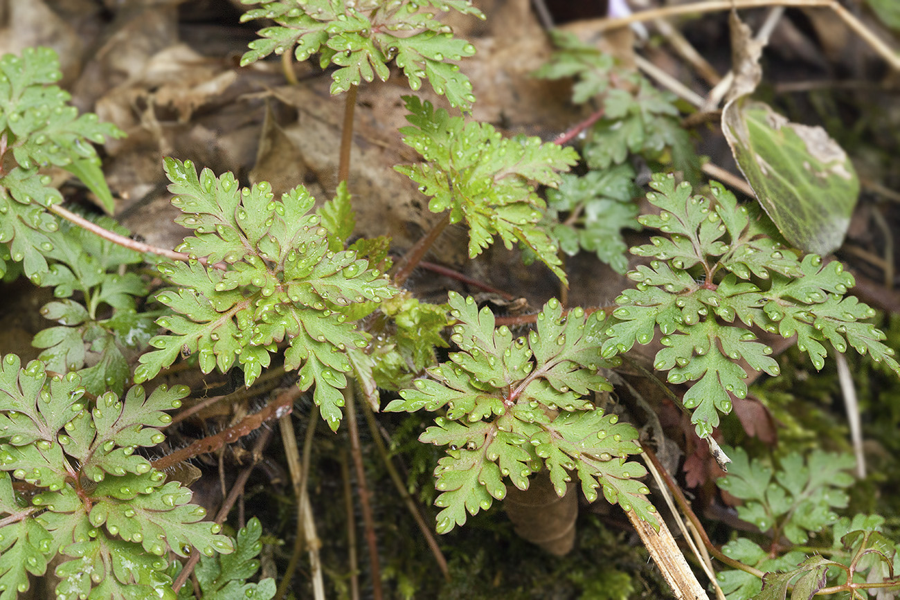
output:
<instances>
[{"instance_id":1,"label":"whole spread of lobed, droplet-edged green leaves across the forest floor","mask_svg":"<svg viewBox=\"0 0 900 600\"><path fill-rule=\"evenodd\" d=\"M390 240L348 244L356 217L345 184L315 210L303 185L275 197L266 182L246 187L177 157L165 160L168 190L192 235L175 251L135 250L108 217L73 219L45 170L66 168L112 209L92 144L121 131L67 104L51 50L0 58L0 269L55 297L41 311L55 324L33 341L40 359L0 359L0 600L49 577L57 557L58 600L281 597L273 579L252 580L259 521L234 538L222 534L190 489L141 453L164 442L166 411L188 393L153 382L178 362L238 372L247 388L277 366L292 374L297 396L310 393L332 431L345 419L355 424L355 390L364 407L390 393L385 412L432 413L418 440L443 449L437 533L465 526L506 497L508 484L526 490L542 470L558 496L577 480L587 501L602 495L659 529L636 460L638 427L597 401L615 390L612 373L635 345L662 345L653 370L685 386L677 400L707 440L747 397L751 372L779 376L761 332L794 340L815 370L853 348L900 374L887 336L870 322L875 311L849 294L854 279L840 262L789 246L758 205L700 180L673 98L561 37L537 76L576 77L574 102L595 101L602 116L581 153L507 138L466 112L472 85L450 61L474 47L433 13L449 10L483 18L461 0L266 2L245 14L275 25L242 64L273 52L318 55L320 67L337 67L331 93L351 98L394 65L413 91L427 79L460 110L405 98L402 142L421 161L395 168L443 217L397 265ZM640 217L628 162L637 156L654 172L652 208ZM465 226L473 259L499 237L565 284L560 253L586 250L635 287L608 309L548 300L536 326L514 334L473 297L450 292L446 304L430 304L403 289L450 224ZM649 261L631 271L626 228L651 232L630 248ZM885 518L835 512L853 485L848 456L788 453L775 468L742 448L725 454L732 464L718 486L743 501L739 516L758 530L756 541L736 537L716 555L729 567L717 578L729 600L785 598L791 587L792 597L810 597L900 586ZM814 535L824 544L806 545ZM194 569L185 559L198 552ZM174 585L191 569L196 587Z\"/></svg>"}]
</instances>

